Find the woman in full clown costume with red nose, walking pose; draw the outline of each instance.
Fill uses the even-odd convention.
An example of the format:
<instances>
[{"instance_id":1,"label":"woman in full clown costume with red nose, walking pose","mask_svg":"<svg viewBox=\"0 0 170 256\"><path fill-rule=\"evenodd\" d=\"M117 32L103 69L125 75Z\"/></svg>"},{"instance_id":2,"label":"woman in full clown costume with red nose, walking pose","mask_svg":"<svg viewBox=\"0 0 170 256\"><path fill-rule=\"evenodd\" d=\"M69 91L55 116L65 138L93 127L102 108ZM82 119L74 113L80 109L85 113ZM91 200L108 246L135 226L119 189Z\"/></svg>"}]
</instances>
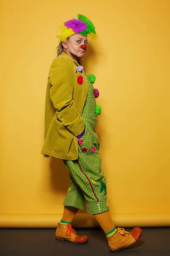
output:
<instances>
[{"instance_id":1,"label":"woman in full clown costume with red nose, walking pose","mask_svg":"<svg viewBox=\"0 0 170 256\"><path fill-rule=\"evenodd\" d=\"M63 160L70 185L64 201L64 212L56 230L56 239L83 244L87 236L78 236L71 222L79 209L94 215L108 239L111 251L135 243L141 236L139 227L130 232L112 222L107 202L106 178L101 170L99 138L96 134L96 105L99 90L95 76L87 75L81 58L87 51L88 39L97 40L95 26L88 17L78 14L57 29L57 58L51 64L45 99L44 157ZM58 175L60 170L58 170Z\"/></svg>"}]
</instances>

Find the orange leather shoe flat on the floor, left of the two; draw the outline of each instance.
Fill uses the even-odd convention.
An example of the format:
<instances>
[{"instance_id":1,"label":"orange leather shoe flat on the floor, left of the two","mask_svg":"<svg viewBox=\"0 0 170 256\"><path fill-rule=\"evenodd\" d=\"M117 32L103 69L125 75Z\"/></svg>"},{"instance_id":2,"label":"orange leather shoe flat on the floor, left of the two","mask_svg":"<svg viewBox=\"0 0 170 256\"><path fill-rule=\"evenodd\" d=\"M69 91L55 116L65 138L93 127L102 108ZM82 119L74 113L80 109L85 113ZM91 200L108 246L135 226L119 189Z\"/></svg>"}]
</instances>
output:
<instances>
[{"instance_id":1,"label":"orange leather shoe flat on the floor, left of the two","mask_svg":"<svg viewBox=\"0 0 170 256\"><path fill-rule=\"evenodd\" d=\"M71 224L60 224L56 230L56 239L67 240L74 244L85 244L88 241L87 236L78 236L76 231L71 227Z\"/></svg>"}]
</instances>

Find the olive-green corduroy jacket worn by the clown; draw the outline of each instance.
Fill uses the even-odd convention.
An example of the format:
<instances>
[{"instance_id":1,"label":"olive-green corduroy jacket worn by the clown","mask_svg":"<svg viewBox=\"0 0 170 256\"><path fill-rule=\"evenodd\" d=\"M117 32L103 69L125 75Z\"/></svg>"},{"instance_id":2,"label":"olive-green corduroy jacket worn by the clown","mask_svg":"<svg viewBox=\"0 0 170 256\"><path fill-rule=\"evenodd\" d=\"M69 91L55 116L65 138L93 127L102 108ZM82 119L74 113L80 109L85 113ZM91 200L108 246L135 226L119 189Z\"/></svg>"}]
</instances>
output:
<instances>
[{"instance_id":1,"label":"olive-green corduroy jacket worn by the clown","mask_svg":"<svg viewBox=\"0 0 170 256\"><path fill-rule=\"evenodd\" d=\"M45 96L45 133L41 154L65 160L78 158L77 137L84 130L81 117L88 93L85 73L79 64L62 52L51 64ZM83 83L77 82L78 76Z\"/></svg>"}]
</instances>

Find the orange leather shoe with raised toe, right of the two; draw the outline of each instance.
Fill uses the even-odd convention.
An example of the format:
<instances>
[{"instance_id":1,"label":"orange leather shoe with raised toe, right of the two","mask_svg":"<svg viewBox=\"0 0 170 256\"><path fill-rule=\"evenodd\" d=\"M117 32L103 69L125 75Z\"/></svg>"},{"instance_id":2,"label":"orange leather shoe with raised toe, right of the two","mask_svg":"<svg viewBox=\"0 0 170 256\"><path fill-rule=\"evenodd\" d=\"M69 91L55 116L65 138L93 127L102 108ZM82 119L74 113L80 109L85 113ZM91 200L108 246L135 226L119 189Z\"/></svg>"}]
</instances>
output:
<instances>
[{"instance_id":1,"label":"orange leather shoe with raised toe, right of the two","mask_svg":"<svg viewBox=\"0 0 170 256\"><path fill-rule=\"evenodd\" d=\"M107 237L109 249L113 252L119 252L123 248L134 244L142 236L142 229L139 227L133 228L130 232L124 228L117 228L116 234Z\"/></svg>"}]
</instances>

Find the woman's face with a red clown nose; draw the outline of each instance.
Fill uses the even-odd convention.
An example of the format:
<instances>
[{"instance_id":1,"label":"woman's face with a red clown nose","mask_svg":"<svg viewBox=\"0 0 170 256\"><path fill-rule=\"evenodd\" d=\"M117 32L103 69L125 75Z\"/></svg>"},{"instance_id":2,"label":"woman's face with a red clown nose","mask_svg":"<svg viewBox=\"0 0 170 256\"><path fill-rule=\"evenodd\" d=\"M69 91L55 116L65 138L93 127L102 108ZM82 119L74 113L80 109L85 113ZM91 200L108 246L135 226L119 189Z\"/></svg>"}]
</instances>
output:
<instances>
[{"instance_id":1,"label":"woman's face with a red clown nose","mask_svg":"<svg viewBox=\"0 0 170 256\"><path fill-rule=\"evenodd\" d=\"M85 55L87 49L82 49L82 44L87 44L88 39L87 36L83 36L81 34L74 34L71 35L67 41L62 42L62 46L64 47L64 51L71 56L72 59L75 61L78 58L82 58Z\"/></svg>"}]
</instances>

